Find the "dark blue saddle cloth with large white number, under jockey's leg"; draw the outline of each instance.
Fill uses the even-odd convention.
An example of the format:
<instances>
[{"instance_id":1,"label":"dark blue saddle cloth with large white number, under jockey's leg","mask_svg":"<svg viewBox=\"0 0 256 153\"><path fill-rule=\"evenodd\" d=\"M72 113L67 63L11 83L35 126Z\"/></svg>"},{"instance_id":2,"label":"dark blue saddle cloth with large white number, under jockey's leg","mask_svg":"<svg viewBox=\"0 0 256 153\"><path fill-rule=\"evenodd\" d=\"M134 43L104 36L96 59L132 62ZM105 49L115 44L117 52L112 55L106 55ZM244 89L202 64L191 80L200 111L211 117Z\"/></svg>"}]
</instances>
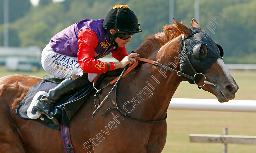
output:
<instances>
[{"instance_id":1,"label":"dark blue saddle cloth with large white number, under jockey's leg","mask_svg":"<svg viewBox=\"0 0 256 153\"><path fill-rule=\"evenodd\" d=\"M30 87L27 95L15 109L18 117L24 120L34 120L53 129L60 130L60 126L54 124L46 115L40 114L33 108L36 101L41 99L42 95L48 93L50 89L57 85L56 83L41 80ZM59 123L62 121L64 125L69 127L70 118L84 103L92 90L93 83L90 83L87 87L78 90L75 94L65 97L50 109L49 115L55 117Z\"/></svg>"}]
</instances>

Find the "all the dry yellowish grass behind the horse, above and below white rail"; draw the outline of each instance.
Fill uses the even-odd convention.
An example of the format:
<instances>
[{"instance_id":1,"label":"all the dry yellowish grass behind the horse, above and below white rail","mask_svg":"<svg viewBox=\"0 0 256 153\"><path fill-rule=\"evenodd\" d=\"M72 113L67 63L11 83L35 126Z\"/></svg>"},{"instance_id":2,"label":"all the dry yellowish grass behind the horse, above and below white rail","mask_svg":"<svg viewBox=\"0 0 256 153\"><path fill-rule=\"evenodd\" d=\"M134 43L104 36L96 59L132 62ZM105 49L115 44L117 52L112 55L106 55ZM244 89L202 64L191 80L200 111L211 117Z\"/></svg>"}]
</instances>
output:
<instances>
[{"instance_id":1,"label":"all the dry yellowish grass behind the horse, above and below white rail","mask_svg":"<svg viewBox=\"0 0 256 153\"><path fill-rule=\"evenodd\" d=\"M48 75L44 71L9 72L0 69L0 77L18 73L37 77ZM235 99L256 100L256 71L231 71L231 74L239 86ZM187 82L180 84L173 97L216 99ZM230 135L256 136L256 113L168 110L167 114L167 141L162 153L220 153L223 144L192 143L189 142L189 134L222 134L223 127L229 128ZM256 152L256 145L228 144L228 152Z\"/></svg>"}]
</instances>

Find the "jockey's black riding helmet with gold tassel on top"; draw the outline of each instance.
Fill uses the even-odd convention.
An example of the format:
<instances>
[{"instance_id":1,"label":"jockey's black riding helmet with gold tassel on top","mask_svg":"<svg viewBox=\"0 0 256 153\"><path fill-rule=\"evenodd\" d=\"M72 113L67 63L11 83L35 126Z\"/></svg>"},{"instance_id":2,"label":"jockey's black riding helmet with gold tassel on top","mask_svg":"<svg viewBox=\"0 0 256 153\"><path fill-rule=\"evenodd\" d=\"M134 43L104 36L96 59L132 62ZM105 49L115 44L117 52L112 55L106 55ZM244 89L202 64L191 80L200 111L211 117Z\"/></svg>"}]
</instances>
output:
<instances>
[{"instance_id":1,"label":"jockey's black riding helmet with gold tassel on top","mask_svg":"<svg viewBox=\"0 0 256 153\"><path fill-rule=\"evenodd\" d=\"M128 39L137 32L141 32L137 16L127 5L115 5L105 17L102 26L107 30L108 36L112 39L111 45L117 45L116 38ZM116 32L112 35L109 29Z\"/></svg>"}]
</instances>

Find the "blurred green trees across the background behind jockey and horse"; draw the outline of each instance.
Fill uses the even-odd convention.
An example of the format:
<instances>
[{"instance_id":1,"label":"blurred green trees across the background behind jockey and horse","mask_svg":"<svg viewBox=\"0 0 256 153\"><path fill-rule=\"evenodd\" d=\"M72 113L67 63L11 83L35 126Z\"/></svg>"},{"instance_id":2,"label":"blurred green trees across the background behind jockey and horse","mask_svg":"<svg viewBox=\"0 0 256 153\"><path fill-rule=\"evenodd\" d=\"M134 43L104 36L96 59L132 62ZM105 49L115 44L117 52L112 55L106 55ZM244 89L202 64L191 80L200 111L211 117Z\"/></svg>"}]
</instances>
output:
<instances>
[{"instance_id":1,"label":"blurred green trees across the background behind jockey and horse","mask_svg":"<svg viewBox=\"0 0 256 153\"><path fill-rule=\"evenodd\" d=\"M50 0L41 0L44 5L23 8L20 0L12 4L22 6L13 12L20 10L28 11L26 15L20 14L9 24L10 41L12 46L37 45L43 48L57 32L79 22L83 19L105 18L108 11L118 3L126 4L138 17L141 33L137 33L126 45L128 52L137 49L144 39L169 24L169 1L168 0L65 0L62 3L52 3ZM0 0L3 2L3 0ZM0 3L2 4L2 3ZM30 3L29 3L30 5ZM227 20L219 13L228 16ZM214 32L210 37L224 49L224 61L228 63L256 63L256 0L200 0L200 23L201 29L207 29L209 23L215 24ZM2 9L0 9L0 19ZM223 21L217 25L212 19L219 16ZM194 18L194 1L176 0L176 21L190 27ZM2 20L1 20L2 21ZM3 26L0 21L0 45L3 44ZM171 21L172 23L173 21ZM209 31L209 30L208 30Z\"/></svg>"}]
</instances>

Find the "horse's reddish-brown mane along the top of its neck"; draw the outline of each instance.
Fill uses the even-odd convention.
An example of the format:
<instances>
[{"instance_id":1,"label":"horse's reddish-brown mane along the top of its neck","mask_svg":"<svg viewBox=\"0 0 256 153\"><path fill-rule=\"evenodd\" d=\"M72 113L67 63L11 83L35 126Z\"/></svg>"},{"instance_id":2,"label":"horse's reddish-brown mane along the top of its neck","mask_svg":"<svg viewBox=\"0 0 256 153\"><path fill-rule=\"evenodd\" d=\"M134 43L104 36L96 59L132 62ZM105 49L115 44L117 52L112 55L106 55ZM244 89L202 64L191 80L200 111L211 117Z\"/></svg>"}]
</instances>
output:
<instances>
[{"instance_id":1,"label":"horse's reddish-brown mane along the top of its neck","mask_svg":"<svg viewBox=\"0 0 256 153\"><path fill-rule=\"evenodd\" d=\"M154 35L148 36L145 41L136 49L136 53L140 57L147 58L156 49L163 46L165 43L179 36L182 31L175 24L163 26L163 31L157 32ZM108 72L109 76L120 75L123 69L117 69Z\"/></svg>"}]
</instances>

